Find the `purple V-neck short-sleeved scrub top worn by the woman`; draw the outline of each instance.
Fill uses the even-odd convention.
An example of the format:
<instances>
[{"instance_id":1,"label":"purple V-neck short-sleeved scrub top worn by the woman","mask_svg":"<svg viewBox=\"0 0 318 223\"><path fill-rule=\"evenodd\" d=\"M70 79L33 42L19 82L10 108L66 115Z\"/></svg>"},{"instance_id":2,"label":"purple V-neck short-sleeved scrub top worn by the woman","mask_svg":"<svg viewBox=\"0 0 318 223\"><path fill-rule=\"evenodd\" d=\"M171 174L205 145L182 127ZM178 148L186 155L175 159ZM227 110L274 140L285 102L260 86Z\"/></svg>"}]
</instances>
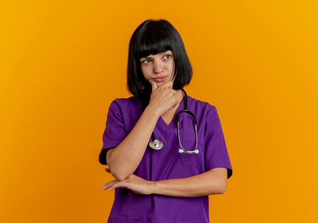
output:
<instances>
[{"instance_id":1,"label":"purple V-neck short-sleeved scrub top worn by the woman","mask_svg":"<svg viewBox=\"0 0 318 223\"><path fill-rule=\"evenodd\" d=\"M157 181L189 177L224 167L228 169L230 178L232 166L214 106L188 96L188 110L195 114L198 123L199 154L178 152L180 145L175 117L184 109L184 100L183 97L169 125L161 117L158 119L154 134L157 139L163 141L164 147L161 150L152 150L147 146L134 174L146 180ZM115 99L111 103L103 135L103 148L99 156L101 164L107 165L107 150L116 147L131 132L141 114L141 102L136 97ZM183 147L193 151L196 136L192 117L182 113L179 126ZM128 189L116 188L108 222L209 222L208 196L184 198L157 194L138 195Z\"/></svg>"}]
</instances>

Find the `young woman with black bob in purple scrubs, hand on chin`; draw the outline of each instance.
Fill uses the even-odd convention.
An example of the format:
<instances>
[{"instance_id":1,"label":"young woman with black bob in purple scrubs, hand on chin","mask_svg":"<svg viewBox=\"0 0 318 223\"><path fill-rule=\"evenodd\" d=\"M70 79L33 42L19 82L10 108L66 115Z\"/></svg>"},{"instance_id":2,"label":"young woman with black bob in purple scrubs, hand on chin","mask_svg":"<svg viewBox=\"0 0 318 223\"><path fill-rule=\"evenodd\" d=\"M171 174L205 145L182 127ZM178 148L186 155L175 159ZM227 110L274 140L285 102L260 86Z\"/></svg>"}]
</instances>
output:
<instances>
[{"instance_id":1,"label":"young woman with black bob in purple scrubs, hand on chin","mask_svg":"<svg viewBox=\"0 0 318 223\"><path fill-rule=\"evenodd\" d=\"M140 24L128 56L134 96L111 103L99 157L115 177L103 185L115 189L108 222L209 222L208 195L225 193L232 167L216 108L182 89L191 78L175 27Z\"/></svg>"}]
</instances>

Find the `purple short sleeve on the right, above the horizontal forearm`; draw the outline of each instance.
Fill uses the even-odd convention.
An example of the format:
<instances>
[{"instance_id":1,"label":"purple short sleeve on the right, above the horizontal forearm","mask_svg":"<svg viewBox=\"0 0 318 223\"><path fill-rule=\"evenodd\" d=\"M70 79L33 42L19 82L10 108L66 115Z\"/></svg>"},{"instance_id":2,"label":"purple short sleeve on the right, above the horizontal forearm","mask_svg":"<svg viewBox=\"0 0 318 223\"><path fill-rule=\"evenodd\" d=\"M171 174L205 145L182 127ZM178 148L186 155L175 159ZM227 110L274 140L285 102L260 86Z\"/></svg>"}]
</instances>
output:
<instances>
[{"instance_id":1,"label":"purple short sleeve on the right, above the horizontal forearm","mask_svg":"<svg viewBox=\"0 0 318 223\"><path fill-rule=\"evenodd\" d=\"M230 178L232 176L232 166L221 123L214 106L206 116L205 125L205 170L219 167L227 168L228 178Z\"/></svg>"}]
</instances>

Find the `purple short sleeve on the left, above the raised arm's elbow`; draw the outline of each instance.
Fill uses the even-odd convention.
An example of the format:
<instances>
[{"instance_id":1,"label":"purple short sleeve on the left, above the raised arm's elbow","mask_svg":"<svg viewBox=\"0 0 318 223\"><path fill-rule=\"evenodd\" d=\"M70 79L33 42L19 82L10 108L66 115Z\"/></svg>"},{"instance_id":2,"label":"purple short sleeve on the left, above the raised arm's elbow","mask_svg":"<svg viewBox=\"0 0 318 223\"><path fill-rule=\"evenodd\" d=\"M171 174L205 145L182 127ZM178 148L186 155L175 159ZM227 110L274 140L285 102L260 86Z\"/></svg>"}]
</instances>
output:
<instances>
[{"instance_id":1,"label":"purple short sleeve on the left, above the raised arm's elbow","mask_svg":"<svg viewBox=\"0 0 318 223\"><path fill-rule=\"evenodd\" d=\"M116 147L127 136L123 122L120 102L115 99L109 106L106 128L103 134L103 147L100 152L99 162L107 165L106 153L109 148Z\"/></svg>"}]
</instances>

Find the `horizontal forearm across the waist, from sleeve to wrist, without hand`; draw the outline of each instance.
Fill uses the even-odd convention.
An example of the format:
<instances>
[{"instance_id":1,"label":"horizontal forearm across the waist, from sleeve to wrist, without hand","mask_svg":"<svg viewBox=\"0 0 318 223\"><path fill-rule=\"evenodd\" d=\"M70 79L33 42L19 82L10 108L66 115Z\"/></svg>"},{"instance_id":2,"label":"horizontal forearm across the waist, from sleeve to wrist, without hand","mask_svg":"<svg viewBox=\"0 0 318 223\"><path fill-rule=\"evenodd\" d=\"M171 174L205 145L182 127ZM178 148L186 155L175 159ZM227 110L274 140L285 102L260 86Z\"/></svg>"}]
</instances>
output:
<instances>
[{"instance_id":1,"label":"horizontal forearm across the waist, from sleeve to wrist, without hand","mask_svg":"<svg viewBox=\"0 0 318 223\"><path fill-rule=\"evenodd\" d=\"M154 181L151 193L174 197L199 197L224 194L226 187L227 169L215 168L186 178Z\"/></svg>"}]
</instances>

